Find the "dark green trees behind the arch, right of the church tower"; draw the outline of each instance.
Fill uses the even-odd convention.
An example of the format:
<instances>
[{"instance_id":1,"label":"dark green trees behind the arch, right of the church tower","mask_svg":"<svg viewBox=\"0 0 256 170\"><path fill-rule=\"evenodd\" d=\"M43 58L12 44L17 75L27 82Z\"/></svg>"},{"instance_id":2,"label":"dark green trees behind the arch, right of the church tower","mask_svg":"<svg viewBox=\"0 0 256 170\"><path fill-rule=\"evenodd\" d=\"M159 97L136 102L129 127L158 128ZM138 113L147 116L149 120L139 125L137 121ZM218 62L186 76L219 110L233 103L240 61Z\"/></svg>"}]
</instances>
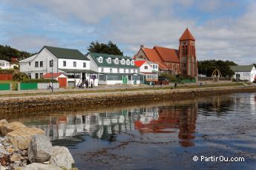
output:
<instances>
[{"instance_id":1,"label":"dark green trees behind the arch, right of the church tower","mask_svg":"<svg viewBox=\"0 0 256 170\"><path fill-rule=\"evenodd\" d=\"M221 61L221 60L206 60L206 61L198 61L198 73L207 75L207 77L211 77L214 69L219 69L223 77L232 77L234 72L230 69L229 66L237 66L233 61Z\"/></svg>"}]
</instances>

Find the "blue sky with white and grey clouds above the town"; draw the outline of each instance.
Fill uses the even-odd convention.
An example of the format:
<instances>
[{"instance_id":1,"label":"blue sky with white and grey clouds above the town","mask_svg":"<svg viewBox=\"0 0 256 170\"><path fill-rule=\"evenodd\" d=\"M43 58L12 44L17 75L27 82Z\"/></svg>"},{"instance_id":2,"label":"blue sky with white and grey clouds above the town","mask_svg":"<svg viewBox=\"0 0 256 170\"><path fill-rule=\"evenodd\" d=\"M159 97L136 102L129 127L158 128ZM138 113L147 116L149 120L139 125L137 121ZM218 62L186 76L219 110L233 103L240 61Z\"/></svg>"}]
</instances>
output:
<instances>
[{"instance_id":1,"label":"blue sky with white and grey clouds above the town","mask_svg":"<svg viewBox=\"0 0 256 170\"><path fill-rule=\"evenodd\" d=\"M186 30L197 60L256 63L254 0L0 0L0 44L27 52L43 46L86 53L112 41L124 55L140 45L178 49Z\"/></svg>"}]
</instances>

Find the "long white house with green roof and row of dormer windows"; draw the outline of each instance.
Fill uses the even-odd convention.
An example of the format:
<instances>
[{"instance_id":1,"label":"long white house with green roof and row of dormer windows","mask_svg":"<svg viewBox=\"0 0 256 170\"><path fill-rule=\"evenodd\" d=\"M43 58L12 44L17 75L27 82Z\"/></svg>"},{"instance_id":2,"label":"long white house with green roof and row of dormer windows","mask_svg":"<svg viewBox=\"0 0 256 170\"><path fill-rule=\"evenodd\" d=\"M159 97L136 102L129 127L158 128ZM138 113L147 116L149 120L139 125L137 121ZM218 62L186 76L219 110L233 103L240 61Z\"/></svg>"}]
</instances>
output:
<instances>
[{"instance_id":1,"label":"long white house with green roof and row of dormer windows","mask_svg":"<svg viewBox=\"0 0 256 170\"><path fill-rule=\"evenodd\" d=\"M87 58L91 70L99 72L99 84L140 84L139 67L130 57L89 52Z\"/></svg>"}]
</instances>

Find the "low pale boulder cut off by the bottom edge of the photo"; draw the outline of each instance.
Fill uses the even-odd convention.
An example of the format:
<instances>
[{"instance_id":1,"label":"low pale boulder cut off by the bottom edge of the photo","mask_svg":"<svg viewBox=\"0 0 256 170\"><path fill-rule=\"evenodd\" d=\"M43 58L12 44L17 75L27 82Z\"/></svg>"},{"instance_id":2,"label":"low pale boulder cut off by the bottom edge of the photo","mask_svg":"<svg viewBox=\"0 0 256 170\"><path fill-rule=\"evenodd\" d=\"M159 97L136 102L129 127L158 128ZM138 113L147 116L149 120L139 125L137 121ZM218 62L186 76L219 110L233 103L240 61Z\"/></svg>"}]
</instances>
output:
<instances>
[{"instance_id":1,"label":"low pale boulder cut off by the bottom edge of the photo","mask_svg":"<svg viewBox=\"0 0 256 170\"><path fill-rule=\"evenodd\" d=\"M42 163L31 163L24 167L18 167L16 170L62 170L58 166L51 164L42 164Z\"/></svg>"}]
</instances>

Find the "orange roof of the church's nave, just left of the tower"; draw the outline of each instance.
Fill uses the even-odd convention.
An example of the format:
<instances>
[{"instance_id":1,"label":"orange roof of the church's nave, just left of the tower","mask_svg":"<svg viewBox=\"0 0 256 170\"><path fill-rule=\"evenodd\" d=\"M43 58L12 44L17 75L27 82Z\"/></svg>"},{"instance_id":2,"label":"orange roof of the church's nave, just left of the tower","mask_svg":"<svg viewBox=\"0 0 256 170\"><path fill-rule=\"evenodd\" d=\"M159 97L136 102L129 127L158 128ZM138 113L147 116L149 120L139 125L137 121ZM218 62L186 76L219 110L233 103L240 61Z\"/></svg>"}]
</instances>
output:
<instances>
[{"instance_id":1,"label":"orange roof of the church's nave, just left of the tower","mask_svg":"<svg viewBox=\"0 0 256 170\"><path fill-rule=\"evenodd\" d=\"M180 63L179 60L179 50L169 49L165 47L154 47L154 50L157 51L157 53L160 55L160 58L163 59L163 61L172 62L172 63Z\"/></svg>"}]
</instances>

